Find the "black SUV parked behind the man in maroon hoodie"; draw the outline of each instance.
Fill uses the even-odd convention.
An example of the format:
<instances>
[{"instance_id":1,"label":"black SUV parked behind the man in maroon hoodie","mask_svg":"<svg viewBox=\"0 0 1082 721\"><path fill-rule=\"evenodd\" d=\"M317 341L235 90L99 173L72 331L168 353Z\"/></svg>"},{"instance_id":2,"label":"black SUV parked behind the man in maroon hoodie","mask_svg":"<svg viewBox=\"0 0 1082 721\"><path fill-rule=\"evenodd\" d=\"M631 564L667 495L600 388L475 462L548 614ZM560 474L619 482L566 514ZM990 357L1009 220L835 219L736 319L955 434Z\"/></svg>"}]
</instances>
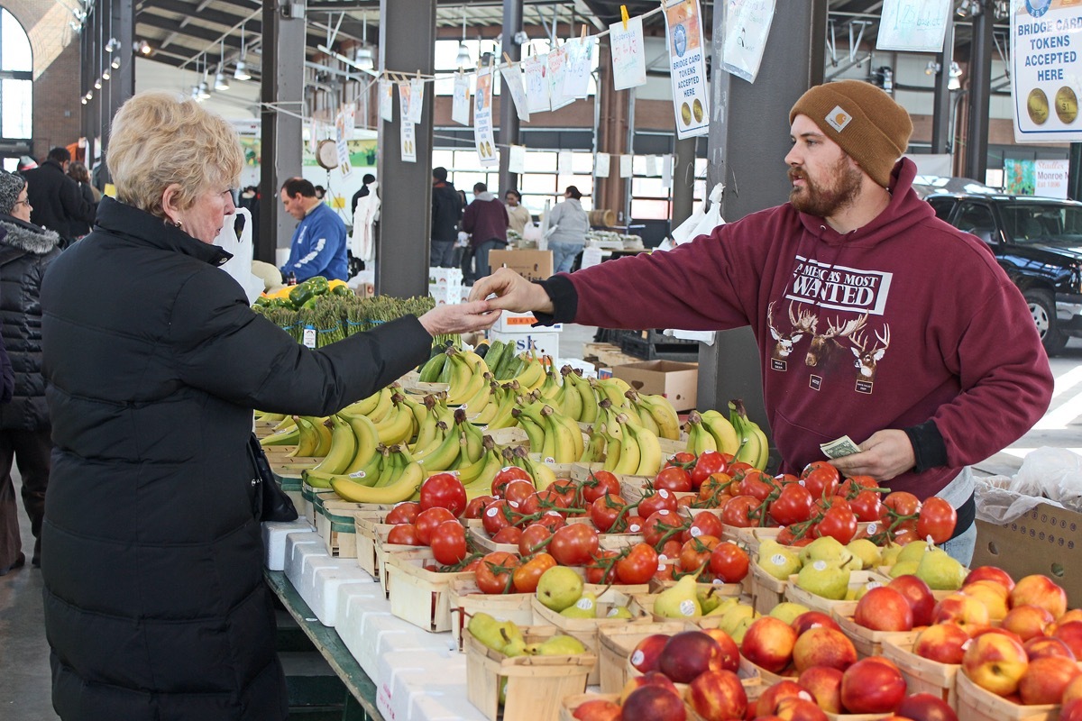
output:
<instances>
[{"instance_id":1,"label":"black SUV parked behind the man in maroon hoodie","mask_svg":"<svg viewBox=\"0 0 1082 721\"><path fill-rule=\"evenodd\" d=\"M1082 203L1028 196L936 193L936 215L972 232L1026 296L1050 356L1082 337Z\"/></svg>"}]
</instances>

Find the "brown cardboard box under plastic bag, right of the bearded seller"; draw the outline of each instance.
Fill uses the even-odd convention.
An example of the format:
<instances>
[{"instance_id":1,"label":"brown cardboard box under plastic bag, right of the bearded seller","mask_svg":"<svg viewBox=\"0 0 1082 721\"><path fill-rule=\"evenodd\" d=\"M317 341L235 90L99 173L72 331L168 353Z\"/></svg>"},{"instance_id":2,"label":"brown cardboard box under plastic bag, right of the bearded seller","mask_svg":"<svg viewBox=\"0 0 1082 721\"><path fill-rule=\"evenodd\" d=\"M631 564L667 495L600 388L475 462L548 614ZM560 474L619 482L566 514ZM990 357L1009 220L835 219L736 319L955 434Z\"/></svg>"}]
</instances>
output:
<instances>
[{"instance_id":1,"label":"brown cardboard box under plastic bag, right of the bearded seller","mask_svg":"<svg viewBox=\"0 0 1082 721\"><path fill-rule=\"evenodd\" d=\"M969 568L995 565L1021 578L1040 573L1063 586L1070 609L1082 606L1082 513L1039 504L1014 521L977 521Z\"/></svg>"}]
</instances>

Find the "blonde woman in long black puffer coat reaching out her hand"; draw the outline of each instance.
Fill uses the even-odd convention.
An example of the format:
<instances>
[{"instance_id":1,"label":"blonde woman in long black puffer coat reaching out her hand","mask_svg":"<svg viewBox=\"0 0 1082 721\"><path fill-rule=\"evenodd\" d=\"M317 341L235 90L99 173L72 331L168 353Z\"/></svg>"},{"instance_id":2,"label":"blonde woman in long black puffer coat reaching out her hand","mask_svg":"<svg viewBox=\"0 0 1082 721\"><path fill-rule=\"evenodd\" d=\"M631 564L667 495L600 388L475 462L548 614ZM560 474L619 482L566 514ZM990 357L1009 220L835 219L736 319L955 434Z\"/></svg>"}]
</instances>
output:
<instances>
[{"instance_id":1,"label":"blonde woman in long black puffer coat reaching out her hand","mask_svg":"<svg viewBox=\"0 0 1082 721\"><path fill-rule=\"evenodd\" d=\"M41 297L53 705L65 720L285 719L252 409L329 415L424 361L433 335L499 313L444 305L307 349L217 268L243 162L228 122L136 94L113 119L107 162L117 199Z\"/></svg>"}]
</instances>

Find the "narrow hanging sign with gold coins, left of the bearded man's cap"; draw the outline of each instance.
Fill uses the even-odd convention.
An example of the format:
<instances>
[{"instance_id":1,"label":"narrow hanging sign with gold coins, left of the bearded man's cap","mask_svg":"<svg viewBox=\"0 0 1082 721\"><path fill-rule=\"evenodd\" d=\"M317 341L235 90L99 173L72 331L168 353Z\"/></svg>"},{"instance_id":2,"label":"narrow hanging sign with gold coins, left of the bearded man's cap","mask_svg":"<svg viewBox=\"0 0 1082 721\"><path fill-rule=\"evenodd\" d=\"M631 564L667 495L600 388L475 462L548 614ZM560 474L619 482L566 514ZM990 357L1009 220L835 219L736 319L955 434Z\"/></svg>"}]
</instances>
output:
<instances>
[{"instance_id":1,"label":"narrow hanging sign with gold coins, left of the bearded man's cap","mask_svg":"<svg viewBox=\"0 0 1082 721\"><path fill-rule=\"evenodd\" d=\"M676 137L705 135L710 132L710 105L707 103L699 0L665 0L665 37Z\"/></svg>"}]
</instances>

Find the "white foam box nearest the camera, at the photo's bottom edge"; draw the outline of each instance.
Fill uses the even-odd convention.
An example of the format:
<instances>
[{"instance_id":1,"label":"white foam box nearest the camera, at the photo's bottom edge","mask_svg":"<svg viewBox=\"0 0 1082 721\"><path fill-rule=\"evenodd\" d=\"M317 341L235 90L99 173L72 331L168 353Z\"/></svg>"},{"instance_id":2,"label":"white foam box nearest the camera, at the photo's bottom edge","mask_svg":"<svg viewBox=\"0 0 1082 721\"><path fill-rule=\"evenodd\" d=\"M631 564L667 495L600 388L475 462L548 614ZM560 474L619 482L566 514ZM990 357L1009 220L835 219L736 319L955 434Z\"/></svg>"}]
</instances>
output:
<instances>
[{"instance_id":1,"label":"white foam box nearest the camera, at the photo's bottom edge","mask_svg":"<svg viewBox=\"0 0 1082 721\"><path fill-rule=\"evenodd\" d=\"M453 651L388 653L380 658L375 707L387 721L485 715L466 698L466 657ZM430 703L422 704L422 698Z\"/></svg>"}]
</instances>

